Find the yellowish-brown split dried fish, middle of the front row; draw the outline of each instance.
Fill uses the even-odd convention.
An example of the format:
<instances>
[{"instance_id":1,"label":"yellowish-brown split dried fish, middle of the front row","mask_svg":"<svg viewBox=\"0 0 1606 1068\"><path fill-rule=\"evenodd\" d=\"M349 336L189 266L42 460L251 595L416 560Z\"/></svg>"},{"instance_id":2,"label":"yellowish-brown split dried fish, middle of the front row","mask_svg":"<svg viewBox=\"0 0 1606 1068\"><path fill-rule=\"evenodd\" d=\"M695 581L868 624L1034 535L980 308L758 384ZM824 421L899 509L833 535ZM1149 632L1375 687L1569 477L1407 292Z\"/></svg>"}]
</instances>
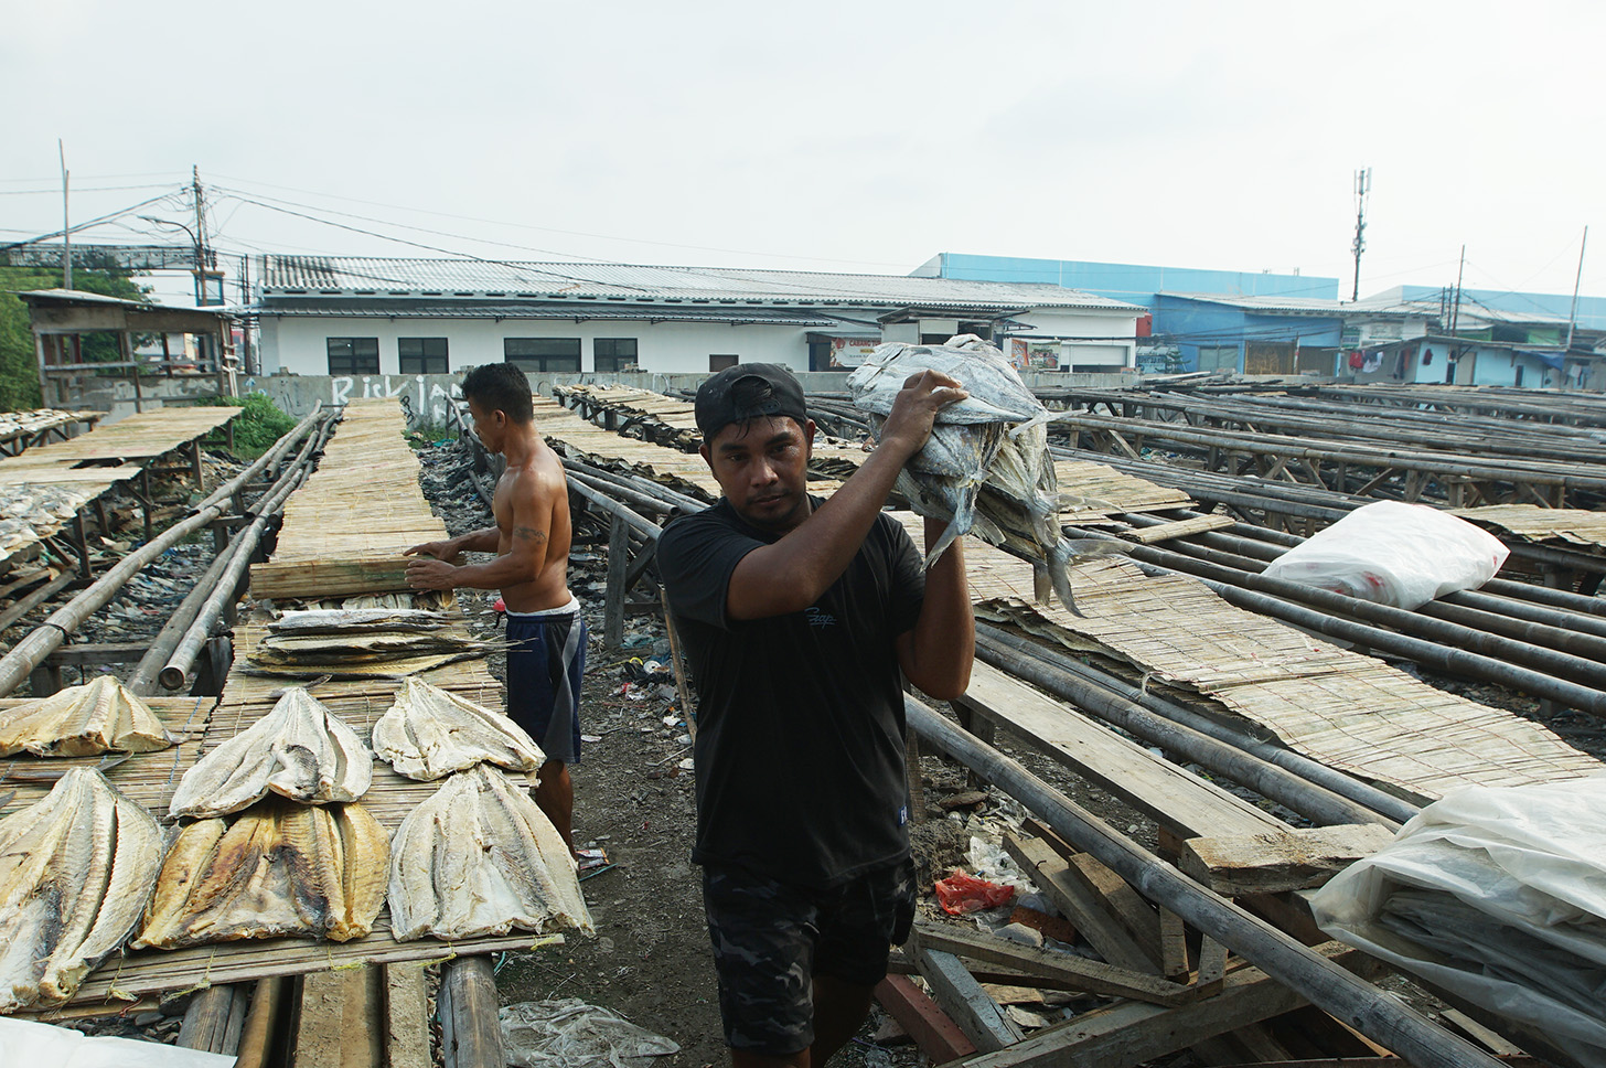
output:
<instances>
[{"instance_id":1,"label":"yellowish-brown split dried fish, middle of the front row","mask_svg":"<svg viewBox=\"0 0 1606 1068\"><path fill-rule=\"evenodd\" d=\"M178 835L135 949L315 935L361 938L385 896L390 846L361 805L270 798Z\"/></svg>"}]
</instances>

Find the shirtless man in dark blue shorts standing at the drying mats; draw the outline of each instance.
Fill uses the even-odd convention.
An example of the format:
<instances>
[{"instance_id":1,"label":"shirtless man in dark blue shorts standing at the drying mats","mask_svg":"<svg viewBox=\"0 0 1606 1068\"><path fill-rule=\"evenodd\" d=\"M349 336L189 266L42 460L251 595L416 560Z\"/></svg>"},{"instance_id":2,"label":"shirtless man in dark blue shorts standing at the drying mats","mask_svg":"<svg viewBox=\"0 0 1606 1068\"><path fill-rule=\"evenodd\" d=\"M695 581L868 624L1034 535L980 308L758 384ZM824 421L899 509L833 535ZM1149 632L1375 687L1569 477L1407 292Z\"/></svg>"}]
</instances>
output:
<instances>
[{"instance_id":1,"label":"shirtless man in dark blue shorts standing at the drying mats","mask_svg":"<svg viewBox=\"0 0 1606 1068\"><path fill-rule=\"evenodd\" d=\"M586 622L569 591L569 487L557 455L535 430L530 381L511 363L474 368L463 379L474 432L501 453L507 469L491 499L495 527L426 541L406 551L414 589L499 589L507 605L507 715L546 753L535 801L573 851L575 790L569 764L580 760L580 678ZM496 552L487 564L456 560Z\"/></svg>"}]
</instances>

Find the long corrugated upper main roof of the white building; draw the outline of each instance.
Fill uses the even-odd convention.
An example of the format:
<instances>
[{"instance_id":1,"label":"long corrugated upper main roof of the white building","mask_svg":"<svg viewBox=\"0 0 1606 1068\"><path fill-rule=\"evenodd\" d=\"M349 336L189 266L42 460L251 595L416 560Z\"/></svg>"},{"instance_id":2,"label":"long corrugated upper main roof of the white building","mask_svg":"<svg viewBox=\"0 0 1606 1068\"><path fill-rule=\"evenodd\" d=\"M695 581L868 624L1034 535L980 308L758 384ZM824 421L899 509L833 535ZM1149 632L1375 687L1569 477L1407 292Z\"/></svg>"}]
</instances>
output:
<instances>
[{"instance_id":1,"label":"long corrugated upper main roof of the white building","mask_svg":"<svg viewBox=\"0 0 1606 1068\"><path fill-rule=\"evenodd\" d=\"M834 275L724 267L646 267L633 263L511 263L487 260L406 260L326 255L268 255L263 297L440 296L541 297L546 300L718 302L805 305L907 305L991 310L1079 308L1140 315L1143 308L1049 284Z\"/></svg>"}]
</instances>

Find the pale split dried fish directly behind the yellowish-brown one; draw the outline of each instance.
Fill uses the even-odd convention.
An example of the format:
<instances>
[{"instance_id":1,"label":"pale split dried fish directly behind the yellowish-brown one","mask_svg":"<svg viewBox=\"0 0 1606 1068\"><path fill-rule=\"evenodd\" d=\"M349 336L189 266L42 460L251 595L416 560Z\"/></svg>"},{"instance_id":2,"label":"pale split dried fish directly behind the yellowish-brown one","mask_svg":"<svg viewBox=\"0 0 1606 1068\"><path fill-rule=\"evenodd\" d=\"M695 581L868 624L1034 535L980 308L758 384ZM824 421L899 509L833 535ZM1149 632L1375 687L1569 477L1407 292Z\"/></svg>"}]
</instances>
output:
<instances>
[{"instance_id":1,"label":"pale split dried fish directly behind the yellowish-brown one","mask_svg":"<svg viewBox=\"0 0 1606 1068\"><path fill-rule=\"evenodd\" d=\"M368 792L373 774L373 753L357 732L292 686L268 715L185 772L169 813L223 816L270 790L307 805L355 801Z\"/></svg>"}]
</instances>

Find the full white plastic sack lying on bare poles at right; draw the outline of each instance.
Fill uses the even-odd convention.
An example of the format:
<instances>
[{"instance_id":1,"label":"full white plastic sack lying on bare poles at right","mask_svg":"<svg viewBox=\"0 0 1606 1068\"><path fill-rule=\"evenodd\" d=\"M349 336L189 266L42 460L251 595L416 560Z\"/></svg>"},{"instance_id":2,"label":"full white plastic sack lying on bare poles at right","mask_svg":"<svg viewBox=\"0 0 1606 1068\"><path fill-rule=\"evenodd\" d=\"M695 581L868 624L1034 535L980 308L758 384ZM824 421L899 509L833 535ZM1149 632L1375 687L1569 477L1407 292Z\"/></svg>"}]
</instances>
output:
<instances>
[{"instance_id":1,"label":"full white plastic sack lying on bare poles at right","mask_svg":"<svg viewBox=\"0 0 1606 1068\"><path fill-rule=\"evenodd\" d=\"M1426 504L1378 501L1272 560L1269 578L1415 609L1495 577L1511 549L1487 530Z\"/></svg>"}]
</instances>

